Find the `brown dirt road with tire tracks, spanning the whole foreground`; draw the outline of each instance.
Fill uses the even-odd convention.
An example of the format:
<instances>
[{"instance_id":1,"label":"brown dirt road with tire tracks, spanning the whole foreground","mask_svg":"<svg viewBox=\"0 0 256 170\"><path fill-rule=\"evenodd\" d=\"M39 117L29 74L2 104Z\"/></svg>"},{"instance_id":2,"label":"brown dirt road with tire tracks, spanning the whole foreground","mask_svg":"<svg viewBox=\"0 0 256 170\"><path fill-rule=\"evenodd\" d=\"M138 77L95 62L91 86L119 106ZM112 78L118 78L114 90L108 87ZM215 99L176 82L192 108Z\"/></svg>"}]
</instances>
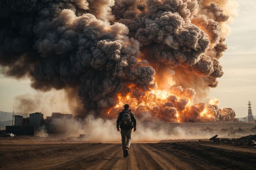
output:
<instances>
[{"instance_id":1,"label":"brown dirt road with tire tracks, spanning the whole foreground","mask_svg":"<svg viewBox=\"0 0 256 170\"><path fill-rule=\"evenodd\" d=\"M0 169L254 169L256 149L209 142L121 144L1 141Z\"/></svg>"}]
</instances>

